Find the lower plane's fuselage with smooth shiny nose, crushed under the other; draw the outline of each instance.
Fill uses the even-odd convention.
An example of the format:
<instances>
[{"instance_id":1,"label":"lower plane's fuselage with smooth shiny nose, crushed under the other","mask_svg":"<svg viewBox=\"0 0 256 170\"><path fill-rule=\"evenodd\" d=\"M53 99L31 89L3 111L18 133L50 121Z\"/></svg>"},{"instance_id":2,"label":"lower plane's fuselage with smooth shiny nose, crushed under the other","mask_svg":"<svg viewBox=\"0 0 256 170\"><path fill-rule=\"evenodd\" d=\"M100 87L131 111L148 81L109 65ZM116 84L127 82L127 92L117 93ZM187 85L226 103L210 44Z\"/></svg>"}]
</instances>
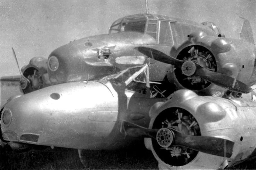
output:
<instances>
[{"instance_id":1,"label":"lower plane's fuselage with smooth shiny nose, crushed under the other","mask_svg":"<svg viewBox=\"0 0 256 170\"><path fill-rule=\"evenodd\" d=\"M2 111L3 138L26 144L95 150L132 144L138 139L120 132L121 120L147 127L150 107L164 99L113 87L118 88L102 81L69 82L13 99Z\"/></svg>"}]
</instances>

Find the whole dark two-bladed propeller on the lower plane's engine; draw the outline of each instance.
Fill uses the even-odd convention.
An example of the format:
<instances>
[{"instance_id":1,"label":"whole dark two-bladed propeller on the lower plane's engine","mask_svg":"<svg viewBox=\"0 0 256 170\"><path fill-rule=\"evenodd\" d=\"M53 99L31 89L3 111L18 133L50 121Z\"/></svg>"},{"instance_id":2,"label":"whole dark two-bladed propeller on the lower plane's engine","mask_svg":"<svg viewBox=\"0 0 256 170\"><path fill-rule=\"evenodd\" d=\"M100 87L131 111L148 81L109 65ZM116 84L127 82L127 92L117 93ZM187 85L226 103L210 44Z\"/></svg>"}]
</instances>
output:
<instances>
[{"instance_id":1,"label":"whole dark two-bladed propeller on the lower plane's engine","mask_svg":"<svg viewBox=\"0 0 256 170\"><path fill-rule=\"evenodd\" d=\"M219 137L193 136L182 134L172 128L147 129L131 122L122 121L121 132L133 137L149 137L168 148L171 145L180 145L187 148L230 158L234 150L234 142Z\"/></svg>"}]
</instances>

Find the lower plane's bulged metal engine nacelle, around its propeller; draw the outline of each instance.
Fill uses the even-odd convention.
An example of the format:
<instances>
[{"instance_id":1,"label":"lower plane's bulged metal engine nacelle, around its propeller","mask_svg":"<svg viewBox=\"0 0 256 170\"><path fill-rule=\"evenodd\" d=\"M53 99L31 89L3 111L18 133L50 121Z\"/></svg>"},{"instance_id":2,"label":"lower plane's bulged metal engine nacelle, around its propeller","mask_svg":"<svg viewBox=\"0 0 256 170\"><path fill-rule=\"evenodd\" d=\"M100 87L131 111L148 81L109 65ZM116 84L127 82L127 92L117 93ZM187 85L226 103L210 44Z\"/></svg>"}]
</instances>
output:
<instances>
[{"instance_id":1,"label":"lower plane's bulged metal engine nacelle, around its propeller","mask_svg":"<svg viewBox=\"0 0 256 170\"><path fill-rule=\"evenodd\" d=\"M219 137L235 142L238 149L231 158L226 158L178 145L163 148L151 138L145 138L145 145L158 161L159 169L233 166L255 154L255 108L256 102L251 100L198 96L190 90L179 90L171 100L151 108L149 129L167 127L187 135Z\"/></svg>"}]
</instances>

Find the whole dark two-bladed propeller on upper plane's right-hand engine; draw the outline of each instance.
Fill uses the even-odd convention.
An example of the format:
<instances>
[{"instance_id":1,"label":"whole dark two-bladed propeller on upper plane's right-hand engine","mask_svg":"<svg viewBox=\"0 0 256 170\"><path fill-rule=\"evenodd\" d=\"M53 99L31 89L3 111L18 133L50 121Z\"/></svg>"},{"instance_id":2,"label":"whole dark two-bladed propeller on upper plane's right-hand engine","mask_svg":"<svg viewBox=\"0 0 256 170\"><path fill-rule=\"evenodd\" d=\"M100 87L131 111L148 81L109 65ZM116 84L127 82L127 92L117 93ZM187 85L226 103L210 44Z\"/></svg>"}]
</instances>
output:
<instances>
[{"instance_id":1,"label":"whole dark two-bladed propeller on upper plane's right-hand engine","mask_svg":"<svg viewBox=\"0 0 256 170\"><path fill-rule=\"evenodd\" d=\"M237 80L236 78L232 78L222 73L207 70L193 61L179 60L153 48L136 47L134 49L138 50L149 58L174 65L175 67L181 69L182 73L186 76L199 76L213 84L219 85L220 87L226 88L234 92L249 93L253 90L251 87Z\"/></svg>"}]
</instances>

